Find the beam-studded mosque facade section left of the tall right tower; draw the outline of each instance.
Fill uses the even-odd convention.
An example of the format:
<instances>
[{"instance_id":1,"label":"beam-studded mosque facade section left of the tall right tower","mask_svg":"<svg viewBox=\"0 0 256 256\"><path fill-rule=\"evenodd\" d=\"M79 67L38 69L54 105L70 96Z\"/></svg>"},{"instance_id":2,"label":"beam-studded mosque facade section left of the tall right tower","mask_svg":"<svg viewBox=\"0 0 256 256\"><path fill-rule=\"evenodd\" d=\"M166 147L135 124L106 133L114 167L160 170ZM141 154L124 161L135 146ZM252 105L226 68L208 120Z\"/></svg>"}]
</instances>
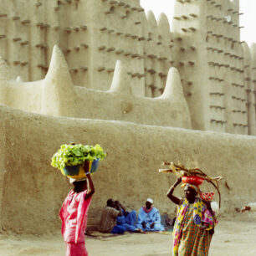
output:
<instances>
[{"instance_id":1,"label":"beam-studded mosque facade section left of the tall right tower","mask_svg":"<svg viewBox=\"0 0 256 256\"><path fill-rule=\"evenodd\" d=\"M162 94L173 64L169 22L161 14L157 23L139 0L2 0L0 6L0 55L24 81L44 78L59 44L74 84L110 89L119 59L136 95Z\"/></svg>"}]
</instances>

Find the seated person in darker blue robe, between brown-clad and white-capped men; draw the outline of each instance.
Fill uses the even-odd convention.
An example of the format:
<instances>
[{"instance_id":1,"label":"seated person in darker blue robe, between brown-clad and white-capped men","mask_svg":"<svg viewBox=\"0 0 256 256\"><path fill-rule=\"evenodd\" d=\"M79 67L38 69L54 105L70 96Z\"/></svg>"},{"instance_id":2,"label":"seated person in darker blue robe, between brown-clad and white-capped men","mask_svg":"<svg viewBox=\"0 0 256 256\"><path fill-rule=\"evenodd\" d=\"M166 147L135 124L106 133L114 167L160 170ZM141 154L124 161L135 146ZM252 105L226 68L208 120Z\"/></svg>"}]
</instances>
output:
<instances>
[{"instance_id":1,"label":"seated person in darker blue robe, between brown-clad and white-capped men","mask_svg":"<svg viewBox=\"0 0 256 256\"><path fill-rule=\"evenodd\" d=\"M136 217L137 213L136 211L131 211L128 212L125 210L125 207L120 204L120 202L115 201L115 205L118 208L122 209L122 215L118 216L116 218L116 225L124 227L125 231L130 231L130 232L140 232L140 228L136 228Z\"/></svg>"}]
</instances>

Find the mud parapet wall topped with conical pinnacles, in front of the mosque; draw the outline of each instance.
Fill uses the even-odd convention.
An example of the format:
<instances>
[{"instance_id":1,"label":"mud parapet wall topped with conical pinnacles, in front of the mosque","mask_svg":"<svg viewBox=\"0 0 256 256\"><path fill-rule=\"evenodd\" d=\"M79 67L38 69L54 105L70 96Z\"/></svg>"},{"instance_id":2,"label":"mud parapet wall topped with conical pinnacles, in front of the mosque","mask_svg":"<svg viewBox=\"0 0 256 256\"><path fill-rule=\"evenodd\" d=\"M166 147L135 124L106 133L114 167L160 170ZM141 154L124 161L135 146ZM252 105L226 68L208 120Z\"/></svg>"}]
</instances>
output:
<instances>
[{"instance_id":1,"label":"mud parapet wall topped with conical pinnacles, in front of the mosque","mask_svg":"<svg viewBox=\"0 0 256 256\"><path fill-rule=\"evenodd\" d=\"M146 125L191 128L187 102L177 69L171 68L163 94L154 99L136 94L125 65L117 61L110 90L75 86L58 46L45 79L21 82L0 58L0 103L45 115L125 120Z\"/></svg>"}]
</instances>

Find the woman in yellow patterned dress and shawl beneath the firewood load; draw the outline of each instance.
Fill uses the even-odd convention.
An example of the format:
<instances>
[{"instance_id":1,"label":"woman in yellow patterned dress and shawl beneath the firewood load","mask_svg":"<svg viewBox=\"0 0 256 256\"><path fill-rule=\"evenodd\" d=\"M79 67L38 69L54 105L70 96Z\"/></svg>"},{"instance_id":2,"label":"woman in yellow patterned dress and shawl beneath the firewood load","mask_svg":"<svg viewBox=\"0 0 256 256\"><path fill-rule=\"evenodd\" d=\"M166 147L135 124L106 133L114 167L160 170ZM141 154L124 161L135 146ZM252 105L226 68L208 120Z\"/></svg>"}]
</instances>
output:
<instances>
[{"instance_id":1,"label":"woman in yellow patterned dress and shawl beneath the firewood load","mask_svg":"<svg viewBox=\"0 0 256 256\"><path fill-rule=\"evenodd\" d=\"M184 199L173 196L175 187L181 182L182 178L178 177L166 194L178 206L173 229L172 255L206 256L217 223L215 213L210 202L197 197L199 188L196 185L186 183Z\"/></svg>"}]
</instances>

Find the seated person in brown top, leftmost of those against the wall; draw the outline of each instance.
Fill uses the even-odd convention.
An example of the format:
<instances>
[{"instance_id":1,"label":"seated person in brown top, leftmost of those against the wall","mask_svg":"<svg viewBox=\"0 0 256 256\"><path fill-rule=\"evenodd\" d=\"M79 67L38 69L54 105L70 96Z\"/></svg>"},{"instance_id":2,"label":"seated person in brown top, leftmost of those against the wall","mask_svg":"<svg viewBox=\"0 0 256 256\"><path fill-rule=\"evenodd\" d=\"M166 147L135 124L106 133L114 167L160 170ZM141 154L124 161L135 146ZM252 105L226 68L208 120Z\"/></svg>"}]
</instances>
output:
<instances>
[{"instance_id":1,"label":"seated person in brown top, leftmost of those against the wall","mask_svg":"<svg viewBox=\"0 0 256 256\"><path fill-rule=\"evenodd\" d=\"M100 232L102 233L124 233L125 227L116 225L116 218L122 216L120 204L115 204L112 199L107 201L107 205L101 213Z\"/></svg>"}]
</instances>

